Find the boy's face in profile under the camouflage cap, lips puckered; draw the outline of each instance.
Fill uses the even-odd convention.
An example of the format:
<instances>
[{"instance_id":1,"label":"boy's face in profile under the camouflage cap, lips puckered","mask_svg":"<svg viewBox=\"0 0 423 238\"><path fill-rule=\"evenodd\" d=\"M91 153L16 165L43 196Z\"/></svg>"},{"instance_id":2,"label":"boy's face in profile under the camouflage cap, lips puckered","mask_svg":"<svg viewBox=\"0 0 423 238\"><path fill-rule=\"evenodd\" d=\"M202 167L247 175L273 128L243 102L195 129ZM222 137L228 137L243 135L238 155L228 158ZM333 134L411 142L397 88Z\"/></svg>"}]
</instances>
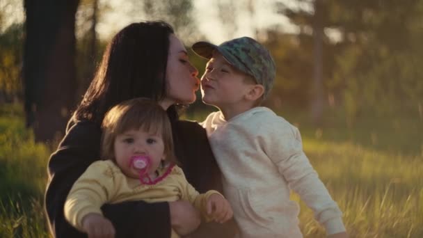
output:
<instances>
[{"instance_id":1,"label":"boy's face in profile under the camouflage cap, lips puckered","mask_svg":"<svg viewBox=\"0 0 423 238\"><path fill-rule=\"evenodd\" d=\"M221 110L236 109L255 84L215 51L201 77L202 101Z\"/></svg>"}]
</instances>

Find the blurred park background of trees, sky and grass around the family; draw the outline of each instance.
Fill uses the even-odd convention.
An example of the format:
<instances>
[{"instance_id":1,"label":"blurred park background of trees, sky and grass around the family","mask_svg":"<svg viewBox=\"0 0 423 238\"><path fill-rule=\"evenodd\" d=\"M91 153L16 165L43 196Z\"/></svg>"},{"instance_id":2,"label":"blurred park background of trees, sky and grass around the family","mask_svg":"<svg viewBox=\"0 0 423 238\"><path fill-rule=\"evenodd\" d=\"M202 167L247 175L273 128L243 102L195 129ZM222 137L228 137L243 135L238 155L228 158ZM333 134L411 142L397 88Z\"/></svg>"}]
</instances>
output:
<instances>
[{"instance_id":1,"label":"blurred park background of trees, sky and grass around the family","mask_svg":"<svg viewBox=\"0 0 423 238\"><path fill-rule=\"evenodd\" d=\"M49 237L47 160L109 40L98 28L111 2L0 0L0 237ZM351 237L423 237L423 0L266 2L295 31L250 24L277 65L265 106L299 127ZM261 3L209 2L227 39L237 15L253 17ZM172 24L187 48L209 40L191 0L125 4L134 21ZM205 61L190 54L201 74ZM184 117L211 110L198 94ZM301 206L305 237L324 237Z\"/></svg>"}]
</instances>

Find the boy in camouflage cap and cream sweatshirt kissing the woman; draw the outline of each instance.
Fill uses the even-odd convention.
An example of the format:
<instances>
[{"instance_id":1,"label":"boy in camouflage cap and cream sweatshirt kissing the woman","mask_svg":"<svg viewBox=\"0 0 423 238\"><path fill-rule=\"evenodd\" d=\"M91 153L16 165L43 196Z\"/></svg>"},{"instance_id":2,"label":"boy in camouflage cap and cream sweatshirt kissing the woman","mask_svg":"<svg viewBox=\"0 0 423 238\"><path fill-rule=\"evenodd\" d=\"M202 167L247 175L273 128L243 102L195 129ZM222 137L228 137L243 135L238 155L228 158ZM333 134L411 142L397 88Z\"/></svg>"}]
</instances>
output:
<instances>
[{"instance_id":1,"label":"boy in camouflage cap and cream sweatshirt kissing the woman","mask_svg":"<svg viewBox=\"0 0 423 238\"><path fill-rule=\"evenodd\" d=\"M209 59L202 101L220 111L202 122L223 174L223 191L240 237L302 237L290 189L314 211L329 237L347 237L342 212L305 156L296 127L260 106L275 63L260 43L243 37L193 51Z\"/></svg>"}]
</instances>

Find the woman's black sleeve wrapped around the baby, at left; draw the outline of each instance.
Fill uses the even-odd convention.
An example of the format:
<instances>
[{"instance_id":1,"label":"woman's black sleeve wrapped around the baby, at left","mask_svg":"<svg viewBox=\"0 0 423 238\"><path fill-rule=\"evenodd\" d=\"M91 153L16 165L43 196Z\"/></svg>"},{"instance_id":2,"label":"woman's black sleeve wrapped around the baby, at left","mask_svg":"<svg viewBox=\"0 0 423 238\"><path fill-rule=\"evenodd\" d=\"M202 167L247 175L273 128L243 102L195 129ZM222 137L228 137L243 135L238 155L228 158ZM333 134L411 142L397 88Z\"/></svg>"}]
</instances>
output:
<instances>
[{"instance_id":1,"label":"woman's black sleeve wrapped around the baby, at left","mask_svg":"<svg viewBox=\"0 0 423 238\"><path fill-rule=\"evenodd\" d=\"M77 122L67 130L58 149L51 154L45 207L54 237L86 237L66 221L64 205L74 182L90 164L99 159L100 138L98 125ZM142 237L142 234L149 232L152 237L170 237L168 203L133 201L106 204L102 212L115 226L115 237Z\"/></svg>"}]
</instances>

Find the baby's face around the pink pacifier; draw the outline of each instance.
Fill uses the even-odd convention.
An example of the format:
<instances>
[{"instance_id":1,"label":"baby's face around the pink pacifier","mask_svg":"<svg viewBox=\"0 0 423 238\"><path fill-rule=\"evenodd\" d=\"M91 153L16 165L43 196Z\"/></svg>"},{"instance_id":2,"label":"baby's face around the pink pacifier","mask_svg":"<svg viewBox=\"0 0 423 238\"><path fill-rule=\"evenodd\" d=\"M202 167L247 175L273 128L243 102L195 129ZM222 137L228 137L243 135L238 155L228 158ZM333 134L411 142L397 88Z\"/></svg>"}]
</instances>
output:
<instances>
[{"instance_id":1,"label":"baby's face around the pink pacifier","mask_svg":"<svg viewBox=\"0 0 423 238\"><path fill-rule=\"evenodd\" d=\"M138 178L139 170L131 165L131 157L150 157L151 164L147 170L150 177L155 177L155 171L161 160L165 159L164 143L161 134L145 132L143 129L129 129L119 134L114 143L116 164L128 177Z\"/></svg>"}]
</instances>

